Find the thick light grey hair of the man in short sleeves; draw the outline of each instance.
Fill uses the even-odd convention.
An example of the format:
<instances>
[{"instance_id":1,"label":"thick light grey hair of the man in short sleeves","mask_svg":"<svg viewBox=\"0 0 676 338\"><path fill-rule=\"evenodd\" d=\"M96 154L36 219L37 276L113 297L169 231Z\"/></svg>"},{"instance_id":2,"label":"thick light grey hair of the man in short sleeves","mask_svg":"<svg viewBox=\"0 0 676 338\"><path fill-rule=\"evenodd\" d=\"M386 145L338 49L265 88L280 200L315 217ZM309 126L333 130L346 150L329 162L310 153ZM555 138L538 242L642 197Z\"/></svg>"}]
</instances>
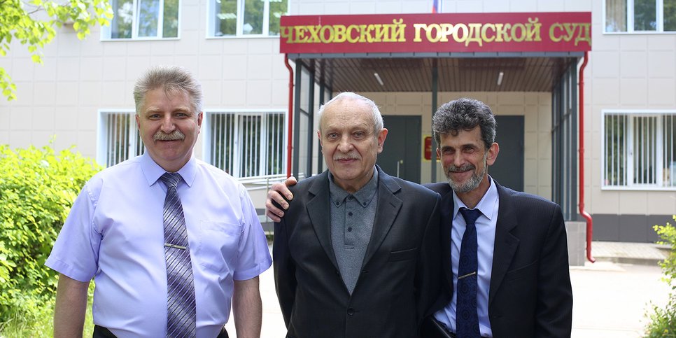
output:
<instances>
[{"instance_id":1,"label":"thick light grey hair of the man in short sleeves","mask_svg":"<svg viewBox=\"0 0 676 338\"><path fill-rule=\"evenodd\" d=\"M141 112L141 107L146 101L146 94L158 88L167 94L187 93L193 113L197 115L202 111L202 85L197 82L192 73L179 66L153 66L143 73L134 85L136 114Z\"/></svg>"}]
</instances>

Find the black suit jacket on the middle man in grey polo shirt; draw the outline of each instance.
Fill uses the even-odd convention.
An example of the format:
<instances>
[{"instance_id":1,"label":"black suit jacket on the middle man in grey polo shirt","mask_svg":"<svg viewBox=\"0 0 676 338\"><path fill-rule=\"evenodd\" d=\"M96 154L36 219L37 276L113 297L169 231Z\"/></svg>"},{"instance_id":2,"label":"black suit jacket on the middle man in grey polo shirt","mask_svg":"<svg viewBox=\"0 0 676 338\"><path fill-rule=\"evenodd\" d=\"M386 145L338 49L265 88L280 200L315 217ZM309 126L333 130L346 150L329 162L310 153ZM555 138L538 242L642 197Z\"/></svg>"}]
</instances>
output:
<instances>
[{"instance_id":1,"label":"black suit jacket on the middle man in grey polo shirt","mask_svg":"<svg viewBox=\"0 0 676 338\"><path fill-rule=\"evenodd\" d=\"M274 276L287 337L416 337L440 292L439 195L378 169L378 204L352 295L330 230L328 171L291 187L274 225Z\"/></svg>"}]
</instances>

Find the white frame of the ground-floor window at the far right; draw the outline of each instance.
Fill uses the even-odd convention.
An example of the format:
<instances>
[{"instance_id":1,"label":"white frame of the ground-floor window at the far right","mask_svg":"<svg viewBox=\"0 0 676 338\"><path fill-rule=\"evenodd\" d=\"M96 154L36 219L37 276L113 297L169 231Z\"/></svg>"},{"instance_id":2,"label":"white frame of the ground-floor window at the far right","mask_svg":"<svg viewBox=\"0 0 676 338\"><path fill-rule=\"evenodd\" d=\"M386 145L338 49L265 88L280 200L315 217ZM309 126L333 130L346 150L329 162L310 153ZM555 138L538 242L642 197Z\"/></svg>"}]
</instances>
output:
<instances>
[{"instance_id":1,"label":"white frame of the ground-floor window at the far right","mask_svg":"<svg viewBox=\"0 0 676 338\"><path fill-rule=\"evenodd\" d=\"M676 191L676 185L672 186L659 186L658 183L662 180L660 178L661 173L658 171L656 172L656 183L654 184L634 184L631 183L633 181L633 176L630 176L629 174L626 174L626 185L607 185L605 183L605 171L606 171L606 133L605 133L605 118L607 115L626 115L628 118L633 118L633 117L652 117L652 116L657 116L658 117L658 123L656 126L656 131L657 134L655 135L656 138L656 157L654 159L653 164L657 164L656 168L661 168L661 162L663 160L663 157L660 154L661 150L663 150L663 145L665 144L665 141L663 140L664 134L661 132L661 128L659 128L659 120L664 115L672 115L674 118L676 118L676 110L673 109L602 109L601 114L600 114L600 122L601 122L601 129L600 129L600 141L601 141L601 156L600 156L600 186L601 190L628 190L628 191ZM631 143L633 141L633 132L631 134L626 135L628 141L627 143ZM637 150L634 150L636 152ZM634 155L631 155L631 159L633 159ZM633 168L631 164L631 159L630 157L626 158L624 161L624 165L626 166L626 171L629 173L633 174ZM676 160L674 161L676 162ZM674 170L674 169L672 169Z\"/></svg>"}]
</instances>

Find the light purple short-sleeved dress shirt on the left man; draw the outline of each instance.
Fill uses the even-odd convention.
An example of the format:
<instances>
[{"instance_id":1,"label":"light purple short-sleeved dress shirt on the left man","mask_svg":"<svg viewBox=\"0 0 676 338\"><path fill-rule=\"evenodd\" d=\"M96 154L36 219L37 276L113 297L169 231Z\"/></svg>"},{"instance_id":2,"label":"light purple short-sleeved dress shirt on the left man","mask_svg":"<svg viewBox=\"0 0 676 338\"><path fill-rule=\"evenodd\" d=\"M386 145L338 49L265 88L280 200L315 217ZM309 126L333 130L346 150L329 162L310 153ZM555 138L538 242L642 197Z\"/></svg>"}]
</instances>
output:
<instances>
[{"instance_id":1,"label":"light purple short-sleeved dress shirt on the left man","mask_svg":"<svg viewBox=\"0 0 676 338\"><path fill-rule=\"evenodd\" d=\"M94 278L94 323L116 336L164 337L167 271L164 169L146 153L104 169L85 184L45 263L78 281ZM234 280L272 265L246 190L192 157L178 171L178 195L195 278L197 337L216 337L230 316Z\"/></svg>"}]
</instances>

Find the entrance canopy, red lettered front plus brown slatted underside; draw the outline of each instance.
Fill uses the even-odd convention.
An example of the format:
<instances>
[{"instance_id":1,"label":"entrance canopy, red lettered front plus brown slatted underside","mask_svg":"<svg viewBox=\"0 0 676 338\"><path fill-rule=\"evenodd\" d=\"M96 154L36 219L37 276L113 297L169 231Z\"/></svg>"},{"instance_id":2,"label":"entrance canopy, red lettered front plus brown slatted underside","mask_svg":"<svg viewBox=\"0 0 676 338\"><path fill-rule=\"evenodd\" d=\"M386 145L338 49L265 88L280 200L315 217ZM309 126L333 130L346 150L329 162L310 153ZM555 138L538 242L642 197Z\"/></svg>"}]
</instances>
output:
<instances>
[{"instance_id":1,"label":"entrance canopy, red lettered front plus brown slatted underside","mask_svg":"<svg viewBox=\"0 0 676 338\"><path fill-rule=\"evenodd\" d=\"M434 68L442 92L551 92L588 50L588 12L281 18L280 51L335 92L429 92Z\"/></svg>"}]
</instances>

